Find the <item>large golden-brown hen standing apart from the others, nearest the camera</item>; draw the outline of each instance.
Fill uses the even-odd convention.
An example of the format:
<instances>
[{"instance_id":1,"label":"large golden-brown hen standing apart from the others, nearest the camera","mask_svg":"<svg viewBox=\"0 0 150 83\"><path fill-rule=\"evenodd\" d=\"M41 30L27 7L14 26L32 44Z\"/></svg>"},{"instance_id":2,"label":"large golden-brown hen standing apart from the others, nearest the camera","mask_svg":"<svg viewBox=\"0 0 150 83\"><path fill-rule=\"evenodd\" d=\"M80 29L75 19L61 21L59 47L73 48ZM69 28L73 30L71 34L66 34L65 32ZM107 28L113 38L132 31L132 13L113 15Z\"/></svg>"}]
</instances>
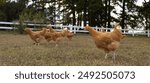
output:
<instances>
[{"instance_id":1,"label":"large golden-brown hen standing apart from the others, nearest the camera","mask_svg":"<svg viewBox=\"0 0 150 83\"><path fill-rule=\"evenodd\" d=\"M121 39L124 37L120 30L120 25L114 26L112 32L98 32L90 26L86 26L85 29L91 34L97 48L105 51L105 58L107 58L107 53L113 51L113 59L115 60L115 51L119 47Z\"/></svg>"}]
</instances>

